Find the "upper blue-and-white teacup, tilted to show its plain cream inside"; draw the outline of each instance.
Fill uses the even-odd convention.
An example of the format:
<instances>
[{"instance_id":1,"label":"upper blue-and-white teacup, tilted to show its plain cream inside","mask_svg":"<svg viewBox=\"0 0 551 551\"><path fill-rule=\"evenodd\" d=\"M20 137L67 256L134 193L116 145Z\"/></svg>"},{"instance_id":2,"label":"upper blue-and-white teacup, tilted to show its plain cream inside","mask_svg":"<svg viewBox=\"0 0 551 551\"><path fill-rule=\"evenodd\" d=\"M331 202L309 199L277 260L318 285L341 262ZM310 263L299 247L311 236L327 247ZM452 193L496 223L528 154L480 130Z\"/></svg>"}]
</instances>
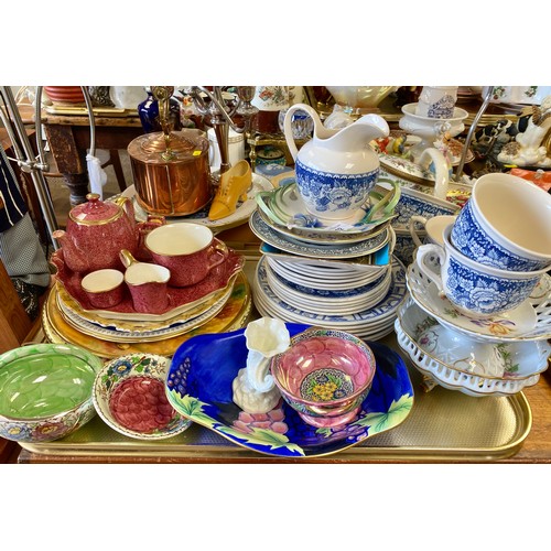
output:
<instances>
[{"instance_id":1,"label":"upper blue-and-white teacup, tilted to show its plain cream inside","mask_svg":"<svg viewBox=\"0 0 551 551\"><path fill-rule=\"evenodd\" d=\"M551 267L551 195L510 174L480 176L453 225L451 240L466 257L499 270Z\"/></svg>"}]
</instances>

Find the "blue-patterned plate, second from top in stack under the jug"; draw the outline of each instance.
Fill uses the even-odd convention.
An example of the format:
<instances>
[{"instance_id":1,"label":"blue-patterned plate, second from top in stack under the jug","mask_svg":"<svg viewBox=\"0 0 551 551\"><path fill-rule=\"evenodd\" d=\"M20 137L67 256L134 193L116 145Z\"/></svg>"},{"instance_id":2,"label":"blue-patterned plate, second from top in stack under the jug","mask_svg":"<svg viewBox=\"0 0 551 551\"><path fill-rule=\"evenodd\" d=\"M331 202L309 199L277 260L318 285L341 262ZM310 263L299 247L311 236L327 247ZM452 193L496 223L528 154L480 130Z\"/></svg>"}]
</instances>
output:
<instances>
[{"instance_id":1,"label":"blue-patterned plate, second from top in stack under the jug","mask_svg":"<svg viewBox=\"0 0 551 551\"><path fill-rule=\"evenodd\" d=\"M334 259L355 258L376 252L389 242L391 231L391 228L388 227L376 237L363 241L346 245L322 246L290 238L276 231L260 217L258 210L255 210L249 218L249 226L259 239L278 249L302 257Z\"/></svg>"}]
</instances>

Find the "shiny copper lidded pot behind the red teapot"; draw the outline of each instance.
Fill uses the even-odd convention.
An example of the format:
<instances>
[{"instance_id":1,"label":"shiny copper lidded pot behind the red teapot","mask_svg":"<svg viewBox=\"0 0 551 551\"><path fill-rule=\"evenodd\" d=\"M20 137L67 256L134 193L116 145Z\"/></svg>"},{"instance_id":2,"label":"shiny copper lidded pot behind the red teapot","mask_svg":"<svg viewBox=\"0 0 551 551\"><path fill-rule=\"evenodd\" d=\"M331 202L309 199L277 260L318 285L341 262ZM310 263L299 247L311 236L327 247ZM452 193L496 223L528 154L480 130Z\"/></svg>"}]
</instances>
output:
<instances>
[{"instance_id":1,"label":"shiny copper lidded pot behind the red teapot","mask_svg":"<svg viewBox=\"0 0 551 551\"><path fill-rule=\"evenodd\" d=\"M136 199L148 213L185 216L213 196L208 139L197 129L151 132L128 145Z\"/></svg>"}]
</instances>

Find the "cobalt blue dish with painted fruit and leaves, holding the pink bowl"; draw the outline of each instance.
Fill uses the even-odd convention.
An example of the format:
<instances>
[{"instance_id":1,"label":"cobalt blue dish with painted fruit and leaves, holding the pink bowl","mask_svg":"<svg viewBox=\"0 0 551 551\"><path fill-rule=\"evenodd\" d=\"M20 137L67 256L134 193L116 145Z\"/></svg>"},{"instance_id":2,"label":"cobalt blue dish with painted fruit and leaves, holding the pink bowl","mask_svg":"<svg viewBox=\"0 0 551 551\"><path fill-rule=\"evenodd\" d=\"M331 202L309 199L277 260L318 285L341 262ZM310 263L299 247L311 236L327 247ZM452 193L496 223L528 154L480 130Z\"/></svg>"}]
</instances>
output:
<instances>
[{"instance_id":1,"label":"cobalt blue dish with painted fruit and leaves, holding the pink bowl","mask_svg":"<svg viewBox=\"0 0 551 551\"><path fill-rule=\"evenodd\" d=\"M310 327L288 323L291 336ZM166 396L191 421L252 451L279 457L328 455L400 424L413 406L413 387L402 358L368 342L377 370L357 419L337 429L306 424L283 400L270 412L251 415L233 401L231 383L247 361L245 329L197 335L183 343L171 363Z\"/></svg>"}]
</instances>

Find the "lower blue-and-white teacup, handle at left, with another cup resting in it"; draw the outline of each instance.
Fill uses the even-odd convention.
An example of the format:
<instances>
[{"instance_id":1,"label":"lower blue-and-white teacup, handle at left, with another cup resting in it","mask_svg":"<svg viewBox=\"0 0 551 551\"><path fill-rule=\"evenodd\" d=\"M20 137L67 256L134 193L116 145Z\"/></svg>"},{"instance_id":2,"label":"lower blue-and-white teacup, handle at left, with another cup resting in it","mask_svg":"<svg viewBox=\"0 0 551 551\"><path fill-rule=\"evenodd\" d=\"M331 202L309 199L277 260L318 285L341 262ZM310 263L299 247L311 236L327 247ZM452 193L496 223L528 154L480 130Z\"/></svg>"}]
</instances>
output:
<instances>
[{"instance_id":1,"label":"lower blue-and-white teacup, handle at left, with another cup resting in it","mask_svg":"<svg viewBox=\"0 0 551 551\"><path fill-rule=\"evenodd\" d=\"M439 293L473 318L493 317L520 306L545 270L515 272L475 262L452 245L452 227L444 230L444 247L422 245L417 251L419 269L434 282ZM439 258L440 267L430 261L433 256Z\"/></svg>"}]
</instances>

